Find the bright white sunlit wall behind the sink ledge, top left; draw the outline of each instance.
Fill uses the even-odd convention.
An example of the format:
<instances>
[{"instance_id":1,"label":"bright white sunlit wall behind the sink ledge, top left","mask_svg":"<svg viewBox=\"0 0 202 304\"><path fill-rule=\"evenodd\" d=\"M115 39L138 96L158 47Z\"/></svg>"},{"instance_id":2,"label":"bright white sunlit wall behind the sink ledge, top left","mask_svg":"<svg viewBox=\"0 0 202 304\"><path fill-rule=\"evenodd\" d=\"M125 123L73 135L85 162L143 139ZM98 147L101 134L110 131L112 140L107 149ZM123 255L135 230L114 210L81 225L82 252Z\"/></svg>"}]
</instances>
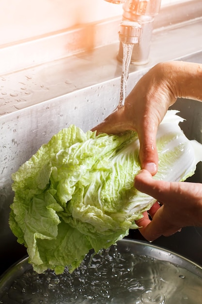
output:
<instances>
[{"instance_id":1,"label":"bright white sunlit wall behind the sink ledge, top left","mask_svg":"<svg viewBox=\"0 0 202 304\"><path fill-rule=\"evenodd\" d=\"M121 14L122 5L104 0L0 0L0 47Z\"/></svg>"}]
</instances>

